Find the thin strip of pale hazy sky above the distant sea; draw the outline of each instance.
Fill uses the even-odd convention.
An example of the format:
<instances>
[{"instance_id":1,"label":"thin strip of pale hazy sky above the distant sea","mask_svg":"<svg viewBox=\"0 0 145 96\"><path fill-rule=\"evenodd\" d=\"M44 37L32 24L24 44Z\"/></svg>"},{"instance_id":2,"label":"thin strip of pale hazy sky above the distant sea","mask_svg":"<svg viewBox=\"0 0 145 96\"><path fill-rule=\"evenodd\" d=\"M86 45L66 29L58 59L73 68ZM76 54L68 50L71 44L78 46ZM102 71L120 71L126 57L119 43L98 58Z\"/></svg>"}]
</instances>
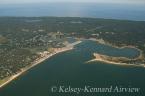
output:
<instances>
[{"instance_id":1,"label":"thin strip of pale hazy sky above the distant sea","mask_svg":"<svg viewBox=\"0 0 145 96\"><path fill-rule=\"evenodd\" d=\"M145 0L0 0L0 4L17 3L49 3L49 2L96 2L96 3L119 3L119 4L145 4Z\"/></svg>"}]
</instances>

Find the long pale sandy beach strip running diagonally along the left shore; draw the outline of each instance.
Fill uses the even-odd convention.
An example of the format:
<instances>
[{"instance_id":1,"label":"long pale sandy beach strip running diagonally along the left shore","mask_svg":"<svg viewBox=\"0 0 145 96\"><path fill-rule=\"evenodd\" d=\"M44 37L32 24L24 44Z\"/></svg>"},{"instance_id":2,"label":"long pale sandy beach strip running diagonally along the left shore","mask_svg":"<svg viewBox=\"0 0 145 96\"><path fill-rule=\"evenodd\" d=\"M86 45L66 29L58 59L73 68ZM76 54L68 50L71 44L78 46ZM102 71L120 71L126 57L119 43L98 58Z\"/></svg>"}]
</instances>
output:
<instances>
[{"instance_id":1,"label":"long pale sandy beach strip running diagonally along the left shore","mask_svg":"<svg viewBox=\"0 0 145 96\"><path fill-rule=\"evenodd\" d=\"M43 61L45 61L46 59L49 59L50 57L58 54L58 53L62 53L65 51L69 51L72 50L74 48L75 45L81 43L82 41L76 41L74 43L68 44L66 45L66 47L63 48L54 48L54 51L52 53L45 51L45 52L41 52L40 53L40 57L37 58L34 62L32 62L31 65L21 69L20 72L18 72L15 75L12 75L10 77L7 77L3 80L0 80L0 88L4 87L5 85L7 85L8 83L10 83L11 81L15 80L16 78L18 78L20 75L22 75L23 73L25 73L26 71L28 71L29 69L35 67L36 65L42 63Z\"/></svg>"}]
</instances>

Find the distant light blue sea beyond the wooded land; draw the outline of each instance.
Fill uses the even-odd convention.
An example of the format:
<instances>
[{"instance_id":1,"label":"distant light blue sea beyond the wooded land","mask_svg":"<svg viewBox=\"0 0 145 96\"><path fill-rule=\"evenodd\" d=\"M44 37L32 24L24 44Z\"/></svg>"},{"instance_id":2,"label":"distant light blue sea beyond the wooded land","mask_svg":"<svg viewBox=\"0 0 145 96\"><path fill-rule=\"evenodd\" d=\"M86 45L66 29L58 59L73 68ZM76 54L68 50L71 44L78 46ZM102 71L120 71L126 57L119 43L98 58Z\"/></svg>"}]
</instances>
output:
<instances>
[{"instance_id":1,"label":"distant light blue sea beyond the wooded land","mask_svg":"<svg viewBox=\"0 0 145 96\"><path fill-rule=\"evenodd\" d=\"M0 4L0 16L93 17L145 21L145 6L101 3Z\"/></svg>"}]
</instances>

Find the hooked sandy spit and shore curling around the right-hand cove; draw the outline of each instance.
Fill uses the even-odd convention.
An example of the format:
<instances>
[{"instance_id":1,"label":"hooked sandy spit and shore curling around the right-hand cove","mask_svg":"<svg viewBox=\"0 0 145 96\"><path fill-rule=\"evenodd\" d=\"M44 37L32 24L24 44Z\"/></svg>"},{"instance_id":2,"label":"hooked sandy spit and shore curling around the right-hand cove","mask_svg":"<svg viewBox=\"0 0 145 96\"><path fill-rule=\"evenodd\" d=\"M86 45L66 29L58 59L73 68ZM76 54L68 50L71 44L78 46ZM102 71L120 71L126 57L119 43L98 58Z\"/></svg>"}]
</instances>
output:
<instances>
[{"instance_id":1,"label":"hooked sandy spit and shore curling around the right-hand cove","mask_svg":"<svg viewBox=\"0 0 145 96\"><path fill-rule=\"evenodd\" d=\"M123 49L123 48L134 48L136 50L138 50L140 52L140 55L134 59L129 59L126 57L113 57L113 56L108 56L108 55L103 55L103 54L98 54L98 53L94 53L93 56L95 57L95 59L89 60L86 63L90 63L90 62L94 62L94 61L100 61L100 62L105 62L105 63L109 63L109 64L114 64L114 65L122 65L122 66L136 66L136 67L145 67L145 64L133 64L133 63L126 63L126 62L131 62L131 61L143 61L144 60L144 54L143 51L138 49L135 46L131 46L131 45L126 45L126 46L115 46L112 45L106 41L104 41L103 39L90 39L92 41L96 41L100 44L104 44L104 45L108 45L114 48L118 48L118 49Z\"/></svg>"}]
</instances>

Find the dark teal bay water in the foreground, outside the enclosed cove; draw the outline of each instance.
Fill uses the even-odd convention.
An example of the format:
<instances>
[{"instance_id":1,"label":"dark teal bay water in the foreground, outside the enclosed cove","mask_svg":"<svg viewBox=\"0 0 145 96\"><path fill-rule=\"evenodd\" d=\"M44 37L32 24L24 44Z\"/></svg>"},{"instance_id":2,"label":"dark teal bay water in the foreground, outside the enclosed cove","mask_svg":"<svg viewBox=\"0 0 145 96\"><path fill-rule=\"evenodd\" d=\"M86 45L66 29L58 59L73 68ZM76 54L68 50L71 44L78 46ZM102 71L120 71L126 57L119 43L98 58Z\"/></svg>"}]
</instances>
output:
<instances>
[{"instance_id":1,"label":"dark teal bay water in the foreground, outside the enclosed cove","mask_svg":"<svg viewBox=\"0 0 145 96\"><path fill-rule=\"evenodd\" d=\"M101 51L95 49L96 46L101 45L90 41L83 42L74 50L49 58L0 89L0 96L144 96L144 68L101 62L85 63L93 58L93 52ZM140 88L140 91L137 93L58 92L60 86L66 88L118 86ZM52 91L52 88L57 88L56 92Z\"/></svg>"}]
</instances>

